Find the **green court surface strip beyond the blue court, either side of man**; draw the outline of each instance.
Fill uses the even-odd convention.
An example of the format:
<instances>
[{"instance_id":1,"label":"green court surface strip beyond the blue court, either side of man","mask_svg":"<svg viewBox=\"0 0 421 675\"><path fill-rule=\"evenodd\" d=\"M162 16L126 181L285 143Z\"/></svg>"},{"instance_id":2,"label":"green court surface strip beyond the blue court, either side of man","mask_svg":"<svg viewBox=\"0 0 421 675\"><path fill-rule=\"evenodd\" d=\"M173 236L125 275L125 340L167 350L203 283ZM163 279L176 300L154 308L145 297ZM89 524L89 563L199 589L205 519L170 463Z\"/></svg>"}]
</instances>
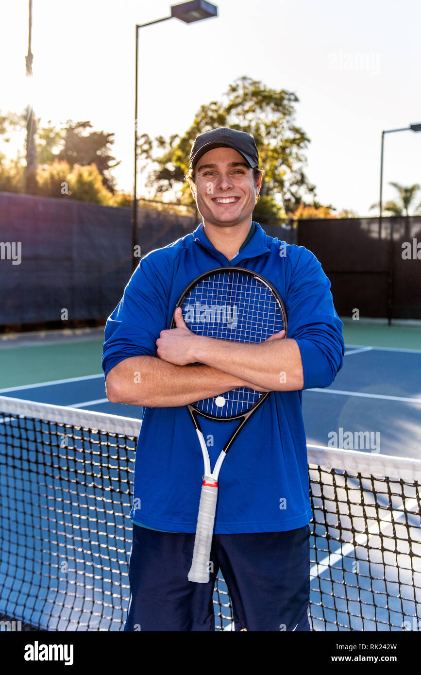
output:
<instances>
[{"instance_id":1,"label":"green court surface strip beyond the blue court, either side of man","mask_svg":"<svg viewBox=\"0 0 421 675\"><path fill-rule=\"evenodd\" d=\"M70 334L68 334L70 333ZM421 350L421 326L346 321L346 345ZM21 333L0 339L0 389L101 373L103 331Z\"/></svg>"}]
</instances>

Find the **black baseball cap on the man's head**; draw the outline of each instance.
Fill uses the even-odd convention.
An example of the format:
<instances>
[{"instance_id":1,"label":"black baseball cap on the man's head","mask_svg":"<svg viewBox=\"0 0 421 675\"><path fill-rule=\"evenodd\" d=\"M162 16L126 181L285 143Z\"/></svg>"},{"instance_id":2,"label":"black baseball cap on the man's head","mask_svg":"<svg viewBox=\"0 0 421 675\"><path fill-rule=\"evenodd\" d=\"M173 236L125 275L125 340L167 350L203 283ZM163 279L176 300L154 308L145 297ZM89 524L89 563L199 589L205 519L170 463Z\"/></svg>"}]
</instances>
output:
<instances>
[{"instance_id":1,"label":"black baseball cap on the man's head","mask_svg":"<svg viewBox=\"0 0 421 675\"><path fill-rule=\"evenodd\" d=\"M221 148L221 146L234 148L252 169L258 169L258 151L253 136L245 131L227 127L212 129L196 136L190 153L190 168L194 169L198 159L208 150Z\"/></svg>"}]
</instances>

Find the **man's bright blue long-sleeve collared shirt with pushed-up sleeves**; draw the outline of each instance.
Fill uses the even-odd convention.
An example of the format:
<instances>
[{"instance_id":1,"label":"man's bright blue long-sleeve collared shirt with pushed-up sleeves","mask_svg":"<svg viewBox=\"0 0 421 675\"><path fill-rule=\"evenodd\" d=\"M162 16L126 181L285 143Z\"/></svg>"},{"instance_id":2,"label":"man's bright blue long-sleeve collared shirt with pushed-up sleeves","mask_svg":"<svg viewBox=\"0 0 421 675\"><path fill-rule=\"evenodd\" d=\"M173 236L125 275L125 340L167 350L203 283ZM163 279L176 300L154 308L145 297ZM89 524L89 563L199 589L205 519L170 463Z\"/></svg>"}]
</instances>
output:
<instances>
[{"instance_id":1,"label":"man's bright blue long-sleeve collared shirt with pushed-up sleeves","mask_svg":"<svg viewBox=\"0 0 421 675\"><path fill-rule=\"evenodd\" d=\"M258 223L231 261L211 244L202 224L144 257L107 321L105 376L125 358L156 356L156 340L169 328L186 286L200 274L228 265L252 269L277 288L287 310L288 338L300 348L304 389L329 386L343 362L343 324L329 279L310 251L267 236ZM201 419L212 467L237 424ZM194 533L202 475L202 451L186 406L145 408L132 520ZM273 391L223 463L215 533L286 531L308 524L311 517L302 391Z\"/></svg>"}]
</instances>

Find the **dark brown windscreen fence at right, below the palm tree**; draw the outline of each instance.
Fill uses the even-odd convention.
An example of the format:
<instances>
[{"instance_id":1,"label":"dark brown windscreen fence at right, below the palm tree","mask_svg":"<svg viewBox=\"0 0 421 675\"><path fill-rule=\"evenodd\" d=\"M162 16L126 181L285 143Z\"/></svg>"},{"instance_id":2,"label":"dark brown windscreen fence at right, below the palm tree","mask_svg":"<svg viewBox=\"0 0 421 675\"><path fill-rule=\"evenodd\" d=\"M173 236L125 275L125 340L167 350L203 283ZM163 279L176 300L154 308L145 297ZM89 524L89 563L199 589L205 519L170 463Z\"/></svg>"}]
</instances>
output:
<instances>
[{"instance_id":1,"label":"dark brown windscreen fence at right, below the palm tree","mask_svg":"<svg viewBox=\"0 0 421 675\"><path fill-rule=\"evenodd\" d=\"M298 244L320 261L343 317L421 319L420 241L421 217L298 221Z\"/></svg>"}]
</instances>

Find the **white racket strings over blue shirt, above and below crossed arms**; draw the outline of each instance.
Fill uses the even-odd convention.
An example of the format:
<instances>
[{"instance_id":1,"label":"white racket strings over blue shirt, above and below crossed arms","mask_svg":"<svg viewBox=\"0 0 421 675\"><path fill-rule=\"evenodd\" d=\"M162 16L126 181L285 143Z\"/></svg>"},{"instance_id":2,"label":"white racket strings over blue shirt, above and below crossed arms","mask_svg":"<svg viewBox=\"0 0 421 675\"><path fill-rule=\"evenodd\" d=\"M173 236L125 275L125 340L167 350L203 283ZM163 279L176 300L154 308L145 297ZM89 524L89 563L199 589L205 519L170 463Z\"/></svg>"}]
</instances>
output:
<instances>
[{"instance_id":1,"label":"white racket strings over blue shirt, above and below crossed arms","mask_svg":"<svg viewBox=\"0 0 421 675\"><path fill-rule=\"evenodd\" d=\"M193 333L217 340L258 343L283 329L281 308L270 288L258 277L240 272L215 273L202 279L181 308ZM240 387L223 397L196 402L195 407L225 418L250 410L262 395Z\"/></svg>"}]
</instances>

